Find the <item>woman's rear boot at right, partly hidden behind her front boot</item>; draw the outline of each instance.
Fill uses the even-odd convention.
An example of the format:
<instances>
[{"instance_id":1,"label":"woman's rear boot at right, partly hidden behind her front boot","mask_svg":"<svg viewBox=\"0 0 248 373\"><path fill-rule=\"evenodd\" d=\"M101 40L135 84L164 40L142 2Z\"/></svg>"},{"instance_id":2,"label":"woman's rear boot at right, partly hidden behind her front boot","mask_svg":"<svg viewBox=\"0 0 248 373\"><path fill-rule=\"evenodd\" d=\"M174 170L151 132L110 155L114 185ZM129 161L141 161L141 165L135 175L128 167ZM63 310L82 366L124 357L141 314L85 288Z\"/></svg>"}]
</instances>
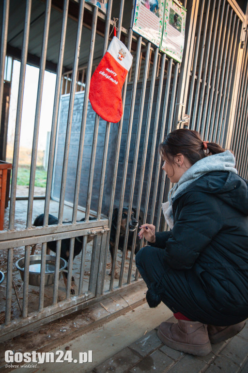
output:
<instances>
[{"instance_id":1,"label":"woman's rear boot at right, partly hidden behind her front boot","mask_svg":"<svg viewBox=\"0 0 248 373\"><path fill-rule=\"evenodd\" d=\"M234 337L238 334L243 327L245 326L246 322L242 321L235 325L230 326L215 326L215 325L208 325L208 335L211 343L219 343L223 340L229 339Z\"/></svg>"}]
</instances>

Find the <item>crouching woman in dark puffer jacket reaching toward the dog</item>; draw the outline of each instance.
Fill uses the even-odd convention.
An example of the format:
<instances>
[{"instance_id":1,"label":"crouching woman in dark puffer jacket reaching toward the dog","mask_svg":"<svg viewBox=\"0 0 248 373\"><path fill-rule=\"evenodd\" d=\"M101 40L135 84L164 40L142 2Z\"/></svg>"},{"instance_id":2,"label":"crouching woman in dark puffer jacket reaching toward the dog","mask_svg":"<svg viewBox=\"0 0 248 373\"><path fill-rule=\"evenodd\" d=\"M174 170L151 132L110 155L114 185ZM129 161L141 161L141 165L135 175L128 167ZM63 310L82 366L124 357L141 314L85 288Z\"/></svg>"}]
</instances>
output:
<instances>
[{"instance_id":1,"label":"crouching woman in dark puffer jacket reaching toward the dog","mask_svg":"<svg viewBox=\"0 0 248 373\"><path fill-rule=\"evenodd\" d=\"M207 355L211 343L233 337L248 318L248 186L233 153L179 129L160 144L171 183L162 208L169 232L141 225L145 246L136 265L150 307L161 301L177 323L158 337L171 348Z\"/></svg>"}]
</instances>

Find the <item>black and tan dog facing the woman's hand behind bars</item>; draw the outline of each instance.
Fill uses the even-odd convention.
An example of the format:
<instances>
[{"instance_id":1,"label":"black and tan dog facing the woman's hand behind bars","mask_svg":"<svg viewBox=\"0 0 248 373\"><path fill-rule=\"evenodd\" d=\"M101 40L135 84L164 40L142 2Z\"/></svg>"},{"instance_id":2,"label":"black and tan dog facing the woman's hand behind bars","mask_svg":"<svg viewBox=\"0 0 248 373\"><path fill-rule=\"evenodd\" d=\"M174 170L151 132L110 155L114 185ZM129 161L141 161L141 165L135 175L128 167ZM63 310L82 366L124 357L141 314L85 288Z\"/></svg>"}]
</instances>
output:
<instances>
[{"instance_id":1,"label":"black and tan dog facing the woman's hand behind bars","mask_svg":"<svg viewBox=\"0 0 248 373\"><path fill-rule=\"evenodd\" d=\"M115 240L116 240L118 212L119 212L118 208L115 208L113 210L112 222L111 222L111 228L110 228L109 251L111 254L111 269L112 269L114 247L115 247ZM128 214L128 208L124 207L122 210L122 220L121 220L120 236L119 236L119 244L118 244L118 249L123 251L125 230L126 230L126 225L128 224L129 230L128 230L127 249L126 249L125 258L127 257L128 251L131 251L132 249L133 235L136 234L137 227L142 224L142 212L141 211L140 211L139 220L137 220L136 218L135 208L132 208L129 221L127 221L127 214ZM139 242L137 240L135 244L134 254L137 254L138 251L139 251ZM109 271L109 274L111 274L111 269ZM115 273L115 277L118 277L116 273Z\"/></svg>"}]
</instances>

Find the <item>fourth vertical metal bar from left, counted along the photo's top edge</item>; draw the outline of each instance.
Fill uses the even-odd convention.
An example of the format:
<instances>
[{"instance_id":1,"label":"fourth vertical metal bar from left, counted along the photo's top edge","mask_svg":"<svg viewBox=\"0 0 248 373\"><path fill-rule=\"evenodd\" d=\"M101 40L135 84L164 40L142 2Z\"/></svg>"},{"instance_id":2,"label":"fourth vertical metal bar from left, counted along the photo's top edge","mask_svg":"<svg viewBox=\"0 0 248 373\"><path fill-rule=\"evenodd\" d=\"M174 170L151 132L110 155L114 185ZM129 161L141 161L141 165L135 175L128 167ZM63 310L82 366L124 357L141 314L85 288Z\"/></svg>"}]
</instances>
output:
<instances>
[{"instance_id":1,"label":"fourth vertical metal bar from left, counted along the photo's top edge","mask_svg":"<svg viewBox=\"0 0 248 373\"><path fill-rule=\"evenodd\" d=\"M46 198L45 198L45 208L44 208L44 226L47 226L48 224L49 204L50 204L50 198L51 198L52 171L53 171L55 139L56 139L57 123L58 123L61 77L62 77L62 68L63 68L63 56L64 56L68 7L69 7L69 0L65 0L63 4L59 60L58 60L58 67L57 67L51 136L50 136L50 147L49 147L49 158L48 158L48 166L47 166L47 187L46 187Z\"/></svg>"}]
</instances>

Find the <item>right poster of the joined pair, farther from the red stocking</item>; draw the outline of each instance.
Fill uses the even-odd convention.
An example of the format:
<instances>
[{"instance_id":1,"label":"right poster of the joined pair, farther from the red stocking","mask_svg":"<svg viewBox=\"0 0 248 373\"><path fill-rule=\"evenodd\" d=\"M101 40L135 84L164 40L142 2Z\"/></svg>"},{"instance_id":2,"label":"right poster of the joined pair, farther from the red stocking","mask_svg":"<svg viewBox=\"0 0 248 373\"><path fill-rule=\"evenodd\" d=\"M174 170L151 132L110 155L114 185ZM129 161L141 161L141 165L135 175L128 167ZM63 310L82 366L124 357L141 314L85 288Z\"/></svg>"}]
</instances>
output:
<instances>
[{"instance_id":1,"label":"right poster of the joined pair, farther from the red stocking","mask_svg":"<svg viewBox=\"0 0 248 373\"><path fill-rule=\"evenodd\" d=\"M160 51L182 62L185 40L186 9L174 1L165 1L164 29Z\"/></svg>"}]
</instances>

